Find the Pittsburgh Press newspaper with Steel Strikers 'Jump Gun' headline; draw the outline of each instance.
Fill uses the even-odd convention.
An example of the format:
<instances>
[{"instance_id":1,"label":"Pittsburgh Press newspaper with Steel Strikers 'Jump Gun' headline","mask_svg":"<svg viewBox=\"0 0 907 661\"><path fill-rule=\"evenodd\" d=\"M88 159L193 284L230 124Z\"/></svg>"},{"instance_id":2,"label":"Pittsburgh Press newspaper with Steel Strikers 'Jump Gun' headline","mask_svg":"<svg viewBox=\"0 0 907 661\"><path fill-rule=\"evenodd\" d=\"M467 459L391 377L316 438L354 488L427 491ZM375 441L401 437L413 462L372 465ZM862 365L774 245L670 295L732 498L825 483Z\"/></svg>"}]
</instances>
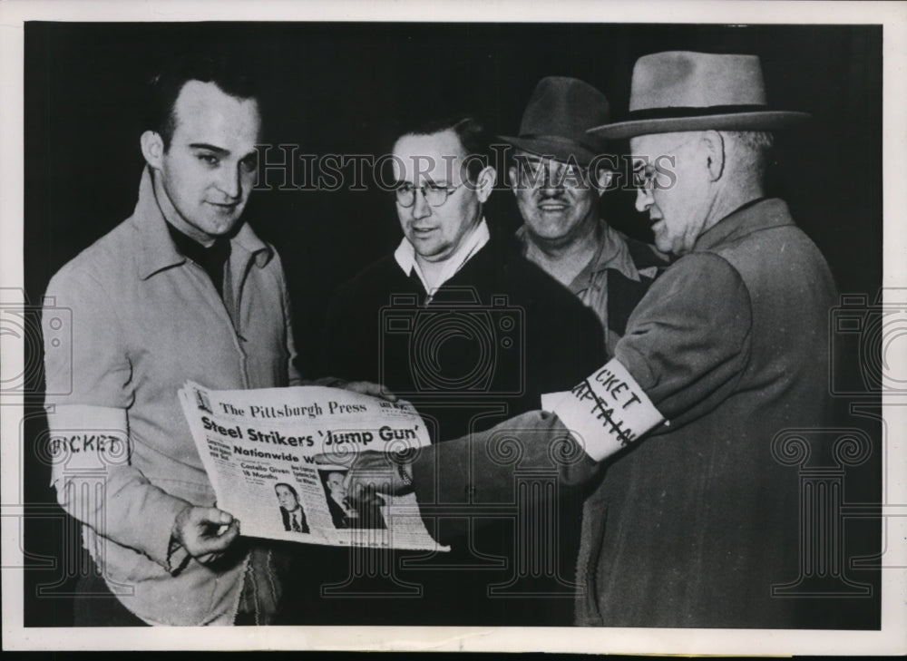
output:
<instances>
[{"instance_id":1,"label":"Pittsburgh Press newspaper with Steel Strikers 'Jump Gun' headline","mask_svg":"<svg viewBox=\"0 0 907 661\"><path fill-rule=\"evenodd\" d=\"M428 534L414 493L347 498L358 452L412 453L430 443L411 404L320 386L216 391L192 382L180 403L218 507L239 519L243 535L449 550ZM319 454L331 463L316 462Z\"/></svg>"}]
</instances>

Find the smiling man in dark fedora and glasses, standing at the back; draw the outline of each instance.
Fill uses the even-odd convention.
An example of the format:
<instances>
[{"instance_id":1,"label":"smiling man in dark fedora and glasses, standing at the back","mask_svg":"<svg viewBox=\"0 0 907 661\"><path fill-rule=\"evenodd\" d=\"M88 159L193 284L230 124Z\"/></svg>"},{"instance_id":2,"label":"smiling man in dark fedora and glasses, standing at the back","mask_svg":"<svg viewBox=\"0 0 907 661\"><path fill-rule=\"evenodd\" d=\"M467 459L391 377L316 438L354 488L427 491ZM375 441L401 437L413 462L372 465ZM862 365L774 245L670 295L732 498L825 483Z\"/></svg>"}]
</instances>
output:
<instances>
[{"instance_id":1,"label":"smiling man in dark fedora and glasses, standing at the back","mask_svg":"<svg viewBox=\"0 0 907 661\"><path fill-rule=\"evenodd\" d=\"M507 178L523 225L525 258L541 267L599 317L609 351L629 313L666 259L611 228L600 215L609 188L607 144L590 128L610 120L608 99L576 78L542 78L522 114Z\"/></svg>"}]
</instances>

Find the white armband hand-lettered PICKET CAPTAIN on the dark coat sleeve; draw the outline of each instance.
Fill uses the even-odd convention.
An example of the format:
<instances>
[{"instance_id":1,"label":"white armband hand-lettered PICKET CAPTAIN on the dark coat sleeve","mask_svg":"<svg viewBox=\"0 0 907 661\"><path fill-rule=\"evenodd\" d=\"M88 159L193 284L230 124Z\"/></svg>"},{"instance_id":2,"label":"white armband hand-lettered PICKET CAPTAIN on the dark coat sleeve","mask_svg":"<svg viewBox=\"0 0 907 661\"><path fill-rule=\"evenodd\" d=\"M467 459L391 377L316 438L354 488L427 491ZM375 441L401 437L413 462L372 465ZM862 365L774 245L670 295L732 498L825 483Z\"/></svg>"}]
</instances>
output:
<instances>
[{"instance_id":1,"label":"white armband hand-lettered PICKET CAPTAIN on the dark coat sleeve","mask_svg":"<svg viewBox=\"0 0 907 661\"><path fill-rule=\"evenodd\" d=\"M543 394L541 408L556 413L573 439L596 462L636 441L664 420L617 358L569 393Z\"/></svg>"}]
</instances>

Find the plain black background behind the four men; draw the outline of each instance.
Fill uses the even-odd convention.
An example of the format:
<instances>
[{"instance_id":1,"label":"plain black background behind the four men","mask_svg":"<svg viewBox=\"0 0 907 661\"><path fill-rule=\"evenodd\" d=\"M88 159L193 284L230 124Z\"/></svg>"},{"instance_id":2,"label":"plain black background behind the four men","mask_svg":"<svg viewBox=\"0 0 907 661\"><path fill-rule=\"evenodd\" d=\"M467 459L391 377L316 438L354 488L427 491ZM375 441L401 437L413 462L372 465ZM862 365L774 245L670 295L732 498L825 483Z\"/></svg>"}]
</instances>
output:
<instances>
[{"instance_id":1,"label":"plain black background behind the four men","mask_svg":"<svg viewBox=\"0 0 907 661\"><path fill-rule=\"evenodd\" d=\"M143 83L161 53L204 44L247 54L260 73L265 140L309 154L385 153L395 120L429 107L472 108L492 131L515 134L535 83L546 75L592 83L619 117L640 55L674 49L758 54L770 104L813 114L809 124L778 136L772 192L786 199L822 250L843 293L872 301L881 287L879 26L27 23L24 275L34 304L59 267L132 213L143 166ZM272 151L268 158L279 156ZM279 173L269 181L278 185ZM646 238L632 201L629 193L608 193L602 212L612 225ZM506 191L493 194L486 213L493 231L517 227ZM307 376L322 375L327 297L395 248L401 235L393 199L374 186L258 191L246 218L283 258L301 366ZM27 364L38 364L37 358L26 355ZM30 413L40 411L41 379L35 372ZM879 425L861 422L867 420L847 423L869 425L878 442ZM71 623L65 593L85 559L76 552L74 529L56 509L49 469L30 450L43 425L40 414L24 425L24 497L33 512L25 521L31 568L25 572L25 624L65 626ZM880 456L877 443L871 461L848 473L847 501L879 502ZM868 547L849 541L849 550L877 549L877 521L848 526L848 539L871 540ZM877 573L852 572L873 583L878 596ZM877 599L860 606L860 617L828 626L877 627Z\"/></svg>"}]
</instances>

